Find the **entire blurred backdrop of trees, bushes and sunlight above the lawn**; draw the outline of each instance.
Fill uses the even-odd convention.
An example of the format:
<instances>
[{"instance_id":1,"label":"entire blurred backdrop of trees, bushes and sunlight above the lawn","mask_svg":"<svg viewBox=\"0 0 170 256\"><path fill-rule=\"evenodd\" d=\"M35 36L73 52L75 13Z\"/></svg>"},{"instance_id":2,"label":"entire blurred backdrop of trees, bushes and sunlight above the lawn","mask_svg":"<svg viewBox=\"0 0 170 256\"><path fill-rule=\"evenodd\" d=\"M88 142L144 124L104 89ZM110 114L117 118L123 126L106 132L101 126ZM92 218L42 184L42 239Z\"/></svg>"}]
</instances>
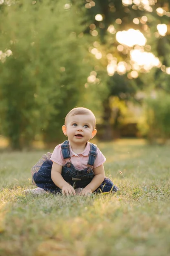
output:
<instances>
[{"instance_id":1,"label":"entire blurred backdrop of trees, bushes and sunlight above the lawn","mask_svg":"<svg viewBox=\"0 0 170 256\"><path fill-rule=\"evenodd\" d=\"M170 0L0 0L0 147L62 143L75 106L98 140L170 138Z\"/></svg>"}]
</instances>

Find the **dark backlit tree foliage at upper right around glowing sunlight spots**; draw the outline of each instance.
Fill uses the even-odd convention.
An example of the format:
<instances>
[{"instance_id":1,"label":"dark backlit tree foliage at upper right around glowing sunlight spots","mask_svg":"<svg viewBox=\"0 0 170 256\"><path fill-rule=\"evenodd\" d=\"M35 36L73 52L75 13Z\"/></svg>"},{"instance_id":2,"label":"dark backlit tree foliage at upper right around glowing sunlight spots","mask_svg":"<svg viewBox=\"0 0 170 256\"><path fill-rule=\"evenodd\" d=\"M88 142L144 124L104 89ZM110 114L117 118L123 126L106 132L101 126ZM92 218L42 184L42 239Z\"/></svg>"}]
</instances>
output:
<instances>
[{"instance_id":1,"label":"dark backlit tree foliage at upper right around glowing sunlight spots","mask_svg":"<svg viewBox=\"0 0 170 256\"><path fill-rule=\"evenodd\" d=\"M97 74L99 75L100 70L106 70L106 67L108 65L108 54L116 58L117 62L125 61L126 63L130 64L131 69L133 70L134 67L132 65L132 62L130 61L130 50L133 49L133 47L124 47L124 50L119 52L117 49L119 43L116 41L116 32L127 30L130 28L139 29L144 34L145 38L147 38L147 44L143 47L143 50L146 52L153 52L157 57L159 57L163 65L169 67L169 31L167 32L167 35L165 37L162 37L158 35L158 31L156 28L156 25L159 23L166 23L168 25L168 15L158 15L156 9L161 7L166 12L169 12L169 3L170 1L161 1L161 3L160 1L150 1L153 12L148 12L145 8L146 6L144 7L145 4L142 3L142 1L138 1L138 3L133 2L132 4L128 5L122 4L122 1L117 0L98 0L95 2L95 6L88 6L86 9L86 13L88 16L88 28L86 29L86 32L90 32L92 34L93 29L98 32L98 36L94 37L94 41L97 41L97 44L95 43L94 46L99 50L99 52L102 53L102 58L98 61L97 64ZM95 20L95 15L97 14L101 14L103 20ZM147 22L141 21L139 22L139 24L135 24L133 22L134 18L141 20L142 16L147 17ZM116 22L116 19L118 18L120 22ZM113 33L109 33L107 31L109 25L114 26L115 31ZM134 46L134 48L135 47L136 46ZM139 74L141 71L142 70L138 70ZM142 78L143 76L144 79ZM162 73L162 71L159 69L154 69L154 71L151 71L151 74L142 73L141 75L139 75L138 79L132 80L127 79L127 74L125 74L124 76L114 74L114 76L110 77L106 72L103 72L101 77L101 80L105 81L105 90L103 90L104 93L102 94L101 100L101 104L103 107L102 110L104 112L103 123L106 123L106 125L108 126L111 119L112 110L111 108L109 109L108 104L109 98L111 96L124 95L123 97L127 101L131 100L135 92L137 90L140 90L142 87L144 87L144 90L147 90L148 87L160 87L160 84L163 88L167 87L168 84L170 84L168 81L169 79L166 79L165 81L163 77L164 73ZM96 97L98 95L99 91L96 91Z\"/></svg>"}]
</instances>

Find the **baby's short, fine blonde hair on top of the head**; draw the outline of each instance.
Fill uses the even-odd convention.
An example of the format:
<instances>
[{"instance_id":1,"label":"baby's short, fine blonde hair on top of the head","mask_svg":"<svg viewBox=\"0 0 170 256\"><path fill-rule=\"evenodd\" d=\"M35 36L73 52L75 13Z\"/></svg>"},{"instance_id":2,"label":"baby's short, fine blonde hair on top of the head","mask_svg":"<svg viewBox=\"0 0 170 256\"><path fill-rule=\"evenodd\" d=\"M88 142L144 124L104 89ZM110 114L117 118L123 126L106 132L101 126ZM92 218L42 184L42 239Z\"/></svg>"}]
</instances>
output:
<instances>
[{"instance_id":1,"label":"baby's short, fine blonde hair on top of the head","mask_svg":"<svg viewBox=\"0 0 170 256\"><path fill-rule=\"evenodd\" d=\"M92 119L94 121L94 129L96 128L96 117L94 115L94 113L88 109L88 108L84 108L84 107L76 107L71 109L71 111L68 112L67 116L65 116L65 125L68 119L68 116L76 116L76 115L92 115Z\"/></svg>"}]
</instances>

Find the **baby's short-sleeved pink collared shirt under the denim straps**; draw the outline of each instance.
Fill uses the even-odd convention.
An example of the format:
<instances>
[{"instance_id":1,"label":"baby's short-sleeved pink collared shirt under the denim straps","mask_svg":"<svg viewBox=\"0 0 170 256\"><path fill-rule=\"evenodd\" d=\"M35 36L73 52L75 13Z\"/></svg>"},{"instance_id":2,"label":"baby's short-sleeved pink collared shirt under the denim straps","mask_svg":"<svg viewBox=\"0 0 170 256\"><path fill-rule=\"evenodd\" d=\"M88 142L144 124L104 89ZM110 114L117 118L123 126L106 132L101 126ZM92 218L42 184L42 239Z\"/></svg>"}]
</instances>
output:
<instances>
[{"instance_id":1,"label":"baby's short-sleeved pink collared shirt under the denim straps","mask_svg":"<svg viewBox=\"0 0 170 256\"><path fill-rule=\"evenodd\" d=\"M54 148L54 151L50 157L50 160L63 166L65 164L65 160L62 157L61 145L62 144L59 144ZM85 150L79 154L74 153L71 149L71 145L69 145L69 146L70 146L70 156L71 156L70 161L74 165L74 167L77 170L83 170L83 169L87 168L88 154L90 151L90 143L88 142L85 147ZM97 153L98 154L97 154L96 160L94 162L94 168L105 163L105 160L106 160L106 158L104 157L102 152L99 150L99 148L97 148Z\"/></svg>"}]
</instances>

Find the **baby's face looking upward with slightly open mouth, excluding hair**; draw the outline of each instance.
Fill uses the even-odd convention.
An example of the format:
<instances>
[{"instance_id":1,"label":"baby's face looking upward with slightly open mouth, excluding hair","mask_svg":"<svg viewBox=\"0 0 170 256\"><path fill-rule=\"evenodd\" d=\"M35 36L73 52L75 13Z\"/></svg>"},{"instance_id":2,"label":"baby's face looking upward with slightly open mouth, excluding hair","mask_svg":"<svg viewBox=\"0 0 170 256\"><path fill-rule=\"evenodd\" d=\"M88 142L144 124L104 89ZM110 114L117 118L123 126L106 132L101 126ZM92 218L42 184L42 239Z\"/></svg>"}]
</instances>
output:
<instances>
[{"instance_id":1,"label":"baby's face looking upward with slightly open mouth, excluding hair","mask_svg":"<svg viewBox=\"0 0 170 256\"><path fill-rule=\"evenodd\" d=\"M68 116L66 120L66 135L73 143L84 144L93 136L95 120L91 113L87 115ZM94 134L94 135L95 135Z\"/></svg>"}]
</instances>

